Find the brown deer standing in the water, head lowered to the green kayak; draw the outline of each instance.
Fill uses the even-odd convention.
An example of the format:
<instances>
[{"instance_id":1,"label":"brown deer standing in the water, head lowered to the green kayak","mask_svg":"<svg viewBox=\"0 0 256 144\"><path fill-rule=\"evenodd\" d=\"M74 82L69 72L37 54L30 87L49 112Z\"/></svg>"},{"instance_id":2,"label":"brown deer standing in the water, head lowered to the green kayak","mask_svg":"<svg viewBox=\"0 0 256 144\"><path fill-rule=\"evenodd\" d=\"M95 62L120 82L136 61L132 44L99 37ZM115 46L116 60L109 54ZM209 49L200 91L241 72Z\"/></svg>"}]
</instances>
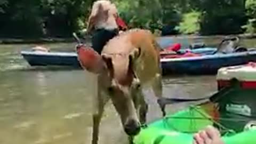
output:
<instances>
[{"instance_id":1,"label":"brown deer standing in the water, head lowered to the green kayak","mask_svg":"<svg viewBox=\"0 0 256 144\"><path fill-rule=\"evenodd\" d=\"M154 35L149 30L127 30L110 39L101 55L84 45L76 48L81 66L98 75L92 143L98 143L99 125L108 100L121 117L125 133L130 138L138 134L148 109L142 88L151 87L158 99L162 97L160 48ZM160 107L165 115L164 106Z\"/></svg>"}]
</instances>

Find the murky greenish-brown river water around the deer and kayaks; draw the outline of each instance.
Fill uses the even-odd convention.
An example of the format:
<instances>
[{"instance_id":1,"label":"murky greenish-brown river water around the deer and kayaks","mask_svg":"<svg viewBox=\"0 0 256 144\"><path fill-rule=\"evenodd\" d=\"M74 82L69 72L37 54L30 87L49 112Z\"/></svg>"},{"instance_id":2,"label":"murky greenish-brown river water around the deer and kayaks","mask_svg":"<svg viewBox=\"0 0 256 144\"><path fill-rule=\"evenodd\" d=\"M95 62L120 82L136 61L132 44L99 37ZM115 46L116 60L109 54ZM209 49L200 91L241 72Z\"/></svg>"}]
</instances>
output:
<instances>
[{"instance_id":1,"label":"murky greenish-brown river water around the deer and kayaks","mask_svg":"<svg viewBox=\"0 0 256 144\"><path fill-rule=\"evenodd\" d=\"M220 39L204 39L214 45ZM242 42L256 47L255 40ZM82 70L31 68L19 52L35 44L0 45L0 143L87 144L91 141L92 74ZM44 44L52 51L73 51L75 43ZM206 97L216 90L215 76L166 76L165 97ZM150 92L148 121L161 118ZM167 107L170 113L187 103ZM127 143L109 102L100 143Z\"/></svg>"}]
</instances>

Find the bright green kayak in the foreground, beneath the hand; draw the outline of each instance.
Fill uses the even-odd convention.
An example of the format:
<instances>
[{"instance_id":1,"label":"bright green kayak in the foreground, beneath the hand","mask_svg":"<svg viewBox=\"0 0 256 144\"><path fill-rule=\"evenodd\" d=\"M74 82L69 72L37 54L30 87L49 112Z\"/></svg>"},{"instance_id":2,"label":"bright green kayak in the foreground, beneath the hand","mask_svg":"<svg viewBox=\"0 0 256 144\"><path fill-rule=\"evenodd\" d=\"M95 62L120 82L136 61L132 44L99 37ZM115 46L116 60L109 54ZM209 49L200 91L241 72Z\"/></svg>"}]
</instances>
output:
<instances>
[{"instance_id":1,"label":"bright green kayak in the foreground, beneath the hand","mask_svg":"<svg viewBox=\"0 0 256 144\"><path fill-rule=\"evenodd\" d=\"M192 144L193 134L207 125L221 128L225 144L255 144L256 130L236 132L218 123L220 117L211 102L179 111L148 124L134 138L135 144ZM227 120L227 119L226 119ZM234 119L235 120L235 119ZM235 120L236 121L236 120Z\"/></svg>"}]
</instances>

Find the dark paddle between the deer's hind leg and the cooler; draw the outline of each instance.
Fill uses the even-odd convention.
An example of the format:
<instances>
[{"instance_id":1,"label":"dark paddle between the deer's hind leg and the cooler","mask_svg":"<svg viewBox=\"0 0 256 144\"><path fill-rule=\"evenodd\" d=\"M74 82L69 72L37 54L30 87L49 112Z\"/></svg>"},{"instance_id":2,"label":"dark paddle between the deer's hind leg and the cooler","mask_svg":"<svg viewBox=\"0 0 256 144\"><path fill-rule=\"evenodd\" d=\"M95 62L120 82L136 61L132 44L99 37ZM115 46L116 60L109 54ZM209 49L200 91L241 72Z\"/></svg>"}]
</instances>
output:
<instances>
[{"instance_id":1,"label":"dark paddle between the deer's hind leg and the cooler","mask_svg":"<svg viewBox=\"0 0 256 144\"><path fill-rule=\"evenodd\" d=\"M218 92L215 92L214 94L212 94L210 97L198 98L198 99L160 98L157 100L157 103L161 106L165 106L165 105L171 105L174 103L192 102L192 101L200 101L200 100L207 100L207 99L209 99L212 102L215 102L221 99L223 95L225 95L225 93L228 93L232 90L234 90L234 85L224 87Z\"/></svg>"}]
</instances>

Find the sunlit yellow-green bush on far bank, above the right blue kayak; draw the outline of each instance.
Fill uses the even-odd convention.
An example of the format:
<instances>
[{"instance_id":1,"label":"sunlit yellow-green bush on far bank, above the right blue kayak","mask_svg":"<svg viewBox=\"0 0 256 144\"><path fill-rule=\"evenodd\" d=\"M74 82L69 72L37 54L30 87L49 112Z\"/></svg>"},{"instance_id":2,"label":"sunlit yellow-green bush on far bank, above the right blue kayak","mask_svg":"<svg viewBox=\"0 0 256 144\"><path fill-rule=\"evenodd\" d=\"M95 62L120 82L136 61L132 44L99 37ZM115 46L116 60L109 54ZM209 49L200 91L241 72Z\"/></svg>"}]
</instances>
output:
<instances>
[{"instance_id":1,"label":"sunlit yellow-green bush on far bank, above the right blue kayak","mask_svg":"<svg viewBox=\"0 0 256 144\"><path fill-rule=\"evenodd\" d=\"M189 12L183 14L182 22L178 26L179 32L182 34L195 34L200 30L199 17L200 12Z\"/></svg>"}]
</instances>

